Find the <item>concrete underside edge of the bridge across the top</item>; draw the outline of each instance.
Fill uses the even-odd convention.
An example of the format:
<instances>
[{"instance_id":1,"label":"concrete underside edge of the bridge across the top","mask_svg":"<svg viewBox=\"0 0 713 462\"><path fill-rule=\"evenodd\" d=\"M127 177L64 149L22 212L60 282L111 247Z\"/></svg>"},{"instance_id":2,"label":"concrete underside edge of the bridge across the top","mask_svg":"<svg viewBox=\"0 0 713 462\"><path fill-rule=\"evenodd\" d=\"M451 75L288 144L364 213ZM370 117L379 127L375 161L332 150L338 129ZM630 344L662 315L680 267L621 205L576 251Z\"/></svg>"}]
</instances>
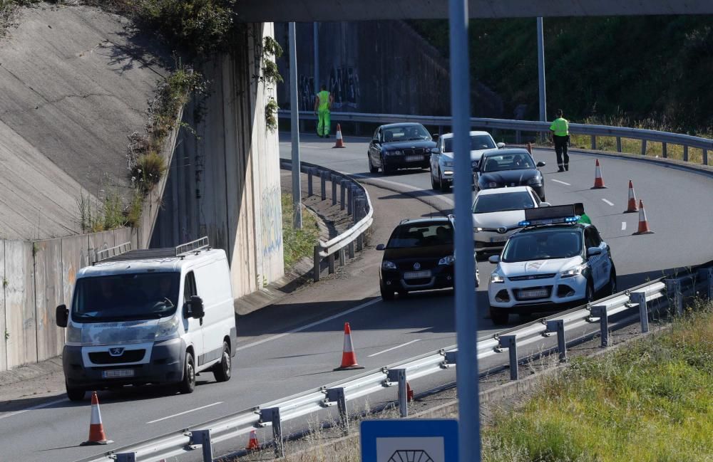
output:
<instances>
[{"instance_id":1,"label":"concrete underside edge of the bridge across the top","mask_svg":"<svg viewBox=\"0 0 713 462\"><path fill-rule=\"evenodd\" d=\"M240 21L444 19L446 0L240 0ZM471 18L713 14L710 0L469 0Z\"/></svg>"}]
</instances>

